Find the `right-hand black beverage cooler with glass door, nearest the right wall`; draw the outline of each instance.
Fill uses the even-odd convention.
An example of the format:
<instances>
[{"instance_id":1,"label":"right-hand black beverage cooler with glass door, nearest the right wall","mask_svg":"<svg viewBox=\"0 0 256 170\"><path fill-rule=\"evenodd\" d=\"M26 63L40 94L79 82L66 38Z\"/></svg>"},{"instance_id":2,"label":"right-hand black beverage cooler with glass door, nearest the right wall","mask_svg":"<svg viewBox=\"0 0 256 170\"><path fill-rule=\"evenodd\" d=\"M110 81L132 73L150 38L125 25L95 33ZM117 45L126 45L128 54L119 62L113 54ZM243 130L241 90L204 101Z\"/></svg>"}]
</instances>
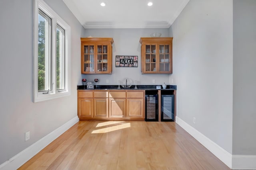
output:
<instances>
[{"instance_id":1,"label":"right-hand black beverage cooler with glass door, nearest the right wall","mask_svg":"<svg viewBox=\"0 0 256 170\"><path fill-rule=\"evenodd\" d=\"M161 121L174 121L174 95L161 95Z\"/></svg>"}]
</instances>

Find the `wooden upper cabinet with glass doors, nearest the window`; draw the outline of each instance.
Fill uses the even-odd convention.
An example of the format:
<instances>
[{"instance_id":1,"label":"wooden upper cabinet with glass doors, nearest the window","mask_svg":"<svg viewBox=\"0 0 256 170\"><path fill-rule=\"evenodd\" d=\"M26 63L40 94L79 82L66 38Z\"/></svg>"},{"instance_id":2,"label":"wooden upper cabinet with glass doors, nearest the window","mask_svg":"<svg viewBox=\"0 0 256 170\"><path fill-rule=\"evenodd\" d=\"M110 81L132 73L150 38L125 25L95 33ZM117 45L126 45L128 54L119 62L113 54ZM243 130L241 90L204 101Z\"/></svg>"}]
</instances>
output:
<instances>
[{"instance_id":1,"label":"wooden upper cabinet with glass doors, nearest the window","mask_svg":"<svg viewBox=\"0 0 256 170\"><path fill-rule=\"evenodd\" d=\"M81 73L112 73L112 38L81 38Z\"/></svg>"}]
</instances>

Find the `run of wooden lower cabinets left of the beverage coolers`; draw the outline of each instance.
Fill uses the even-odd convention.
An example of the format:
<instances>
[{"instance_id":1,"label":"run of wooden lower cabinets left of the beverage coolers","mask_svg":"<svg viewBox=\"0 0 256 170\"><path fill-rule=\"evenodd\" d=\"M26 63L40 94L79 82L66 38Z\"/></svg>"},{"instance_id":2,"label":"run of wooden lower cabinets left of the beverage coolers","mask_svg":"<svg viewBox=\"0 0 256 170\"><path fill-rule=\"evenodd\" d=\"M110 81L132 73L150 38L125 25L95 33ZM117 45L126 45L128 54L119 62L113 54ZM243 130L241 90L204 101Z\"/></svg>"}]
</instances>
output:
<instances>
[{"instance_id":1,"label":"run of wooden lower cabinets left of the beverage coolers","mask_svg":"<svg viewBox=\"0 0 256 170\"><path fill-rule=\"evenodd\" d=\"M78 90L80 120L144 120L144 90Z\"/></svg>"}]
</instances>

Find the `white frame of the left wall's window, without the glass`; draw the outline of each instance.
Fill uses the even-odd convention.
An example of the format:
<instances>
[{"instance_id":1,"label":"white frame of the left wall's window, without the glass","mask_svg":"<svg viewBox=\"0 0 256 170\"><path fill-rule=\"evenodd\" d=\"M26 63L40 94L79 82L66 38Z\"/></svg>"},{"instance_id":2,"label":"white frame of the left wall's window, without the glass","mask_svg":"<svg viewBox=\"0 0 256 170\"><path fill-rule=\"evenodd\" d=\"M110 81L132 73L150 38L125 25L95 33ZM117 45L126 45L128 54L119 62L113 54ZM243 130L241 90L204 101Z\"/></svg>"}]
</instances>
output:
<instances>
[{"instance_id":1,"label":"white frame of the left wall's window, without the glass","mask_svg":"<svg viewBox=\"0 0 256 170\"><path fill-rule=\"evenodd\" d=\"M38 11L39 9L52 19L51 27L51 90L38 92ZM56 28L57 24L64 29L64 68L65 68L65 87L63 90L56 89ZM70 95L70 26L56 14L43 0L34 0L34 102L51 100ZM46 91L47 92L47 91Z\"/></svg>"}]
</instances>

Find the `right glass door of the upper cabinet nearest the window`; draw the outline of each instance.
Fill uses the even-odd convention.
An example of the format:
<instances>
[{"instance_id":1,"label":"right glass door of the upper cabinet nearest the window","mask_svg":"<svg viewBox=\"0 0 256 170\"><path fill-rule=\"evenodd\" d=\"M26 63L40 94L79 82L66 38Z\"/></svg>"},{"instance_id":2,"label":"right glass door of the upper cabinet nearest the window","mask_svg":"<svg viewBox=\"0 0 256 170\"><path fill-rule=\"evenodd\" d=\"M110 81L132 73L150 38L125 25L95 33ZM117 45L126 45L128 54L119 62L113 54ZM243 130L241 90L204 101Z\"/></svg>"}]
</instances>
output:
<instances>
[{"instance_id":1,"label":"right glass door of the upper cabinet nearest the window","mask_svg":"<svg viewBox=\"0 0 256 170\"><path fill-rule=\"evenodd\" d=\"M108 45L97 45L96 72L108 72L108 62Z\"/></svg>"}]
</instances>

